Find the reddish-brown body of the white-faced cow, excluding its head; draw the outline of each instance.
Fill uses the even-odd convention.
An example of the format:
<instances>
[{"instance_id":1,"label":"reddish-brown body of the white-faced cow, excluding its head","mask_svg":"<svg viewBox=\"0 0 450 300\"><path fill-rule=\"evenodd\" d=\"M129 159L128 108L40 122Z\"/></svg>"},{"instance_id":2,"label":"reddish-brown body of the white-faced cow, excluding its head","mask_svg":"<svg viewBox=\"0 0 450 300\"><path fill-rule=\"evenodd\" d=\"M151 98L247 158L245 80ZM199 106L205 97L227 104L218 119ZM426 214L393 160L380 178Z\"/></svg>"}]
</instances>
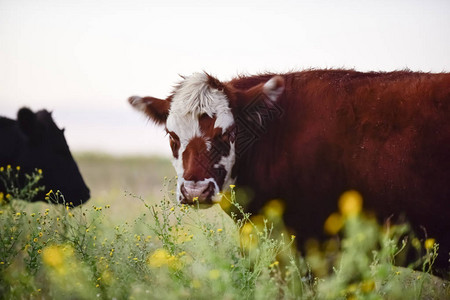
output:
<instances>
[{"instance_id":1,"label":"reddish-brown body of the white-faced cow, excluding its head","mask_svg":"<svg viewBox=\"0 0 450 300\"><path fill-rule=\"evenodd\" d=\"M272 76L226 85L248 89ZM438 263L448 265L450 74L312 70L280 76L281 117L245 153L236 150L236 185L255 193L250 211L283 198L285 221L304 241L322 235L339 195L356 189L381 220L405 216L421 237L423 226L441 244Z\"/></svg>"}]
</instances>

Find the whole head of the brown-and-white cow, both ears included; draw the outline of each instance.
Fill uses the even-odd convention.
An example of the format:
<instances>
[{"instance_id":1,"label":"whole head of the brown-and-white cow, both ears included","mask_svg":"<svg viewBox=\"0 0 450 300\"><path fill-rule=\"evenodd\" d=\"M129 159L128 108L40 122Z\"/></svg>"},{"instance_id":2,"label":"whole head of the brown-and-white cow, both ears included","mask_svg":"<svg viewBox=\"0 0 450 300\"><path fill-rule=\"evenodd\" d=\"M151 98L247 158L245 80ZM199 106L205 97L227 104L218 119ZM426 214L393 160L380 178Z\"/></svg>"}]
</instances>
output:
<instances>
[{"instance_id":1,"label":"whole head of the brown-and-white cow, both ears included","mask_svg":"<svg viewBox=\"0 0 450 300\"><path fill-rule=\"evenodd\" d=\"M231 89L231 91L230 91ZM284 81L274 77L249 90L249 97L275 101ZM130 97L129 102L156 123L165 124L170 138L173 166L177 172L180 203L213 203L219 193L233 184L237 126L233 101L246 101L245 92L236 93L205 73L184 78L167 100Z\"/></svg>"}]
</instances>

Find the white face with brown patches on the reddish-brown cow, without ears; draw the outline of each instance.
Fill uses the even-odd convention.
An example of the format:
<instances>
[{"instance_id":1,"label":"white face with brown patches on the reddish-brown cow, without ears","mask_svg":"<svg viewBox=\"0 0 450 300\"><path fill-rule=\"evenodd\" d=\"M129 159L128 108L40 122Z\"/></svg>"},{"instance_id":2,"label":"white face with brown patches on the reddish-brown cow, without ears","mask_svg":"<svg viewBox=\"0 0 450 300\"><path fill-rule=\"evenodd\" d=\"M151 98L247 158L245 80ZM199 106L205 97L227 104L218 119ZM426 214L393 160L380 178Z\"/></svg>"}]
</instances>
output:
<instances>
[{"instance_id":1,"label":"white face with brown patches on the reddish-brown cow, without ears","mask_svg":"<svg viewBox=\"0 0 450 300\"><path fill-rule=\"evenodd\" d=\"M232 183L234 117L225 93L208 80L204 73L186 78L174 92L166 121L181 203L218 202L219 192Z\"/></svg>"}]
</instances>

